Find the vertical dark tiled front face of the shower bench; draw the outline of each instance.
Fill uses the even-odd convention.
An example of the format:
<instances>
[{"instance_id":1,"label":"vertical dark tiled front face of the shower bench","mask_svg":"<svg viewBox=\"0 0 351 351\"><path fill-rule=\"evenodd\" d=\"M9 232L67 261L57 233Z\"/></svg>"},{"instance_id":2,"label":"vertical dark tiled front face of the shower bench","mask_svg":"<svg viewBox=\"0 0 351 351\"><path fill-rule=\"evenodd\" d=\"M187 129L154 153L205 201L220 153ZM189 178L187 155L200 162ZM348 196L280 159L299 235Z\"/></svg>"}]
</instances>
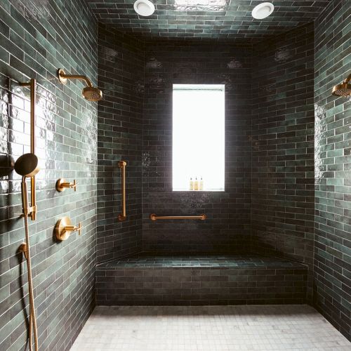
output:
<instances>
[{"instance_id":1,"label":"vertical dark tiled front face of the shower bench","mask_svg":"<svg viewBox=\"0 0 351 351\"><path fill-rule=\"evenodd\" d=\"M146 267L96 270L99 305L305 303L307 267Z\"/></svg>"}]
</instances>

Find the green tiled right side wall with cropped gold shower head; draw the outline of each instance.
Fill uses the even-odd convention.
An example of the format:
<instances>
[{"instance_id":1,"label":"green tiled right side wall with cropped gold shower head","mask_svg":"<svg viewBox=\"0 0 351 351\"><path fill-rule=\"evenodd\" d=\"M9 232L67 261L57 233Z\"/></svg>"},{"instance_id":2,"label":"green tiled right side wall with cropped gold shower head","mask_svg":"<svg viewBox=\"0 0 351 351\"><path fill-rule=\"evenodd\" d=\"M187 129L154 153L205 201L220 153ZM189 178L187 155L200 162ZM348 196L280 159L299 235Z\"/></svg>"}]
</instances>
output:
<instances>
[{"instance_id":1,"label":"green tiled right side wall with cropped gold shower head","mask_svg":"<svg viewBox=\"0 0 351 351\"><path fill-rule=\"evenodd\" d=\"M351 1L315 22L314 303L351 340L351 99L331 95L351 73Z\"/></svg>"}]
</instances>

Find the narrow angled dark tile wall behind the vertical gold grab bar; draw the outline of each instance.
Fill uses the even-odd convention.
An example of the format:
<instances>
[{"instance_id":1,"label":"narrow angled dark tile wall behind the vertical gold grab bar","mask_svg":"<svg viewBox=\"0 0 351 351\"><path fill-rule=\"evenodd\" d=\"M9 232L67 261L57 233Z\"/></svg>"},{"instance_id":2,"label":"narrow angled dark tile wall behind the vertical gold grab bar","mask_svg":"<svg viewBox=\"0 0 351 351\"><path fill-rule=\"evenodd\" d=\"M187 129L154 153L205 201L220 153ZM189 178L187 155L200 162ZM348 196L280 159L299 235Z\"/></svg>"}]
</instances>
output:
<instances>
[{"instance_id":1,"label":"narrow angled dark tile wall behind the vertical gold grab bar","mask_svg":"<svg viewBox=\"0 0 351 351\"><path fill-rule=\"evenodd\" d=\"M99 25L98 261L137 253L142 230L143 43ZM126 213L121 212L120 160L126 166Z\"/></svg>"}]
</instances>

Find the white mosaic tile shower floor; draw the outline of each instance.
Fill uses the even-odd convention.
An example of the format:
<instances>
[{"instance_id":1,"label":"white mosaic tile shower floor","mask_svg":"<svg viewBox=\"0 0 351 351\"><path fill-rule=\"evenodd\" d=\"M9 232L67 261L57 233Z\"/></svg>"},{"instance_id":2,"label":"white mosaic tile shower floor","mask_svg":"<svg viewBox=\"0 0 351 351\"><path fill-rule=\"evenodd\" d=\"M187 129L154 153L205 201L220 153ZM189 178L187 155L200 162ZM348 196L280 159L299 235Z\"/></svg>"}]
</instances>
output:
<instances>
[{"instance_id":1,"label":"white mosaic tile shower floor","mask_svg":"<svg viewBox=\"0 0 351 351\"><path fill-rule=\"evenodd\" d=\"M72 351L351 350L307 305L98 306Z\"/></svg>"}]
</instances>

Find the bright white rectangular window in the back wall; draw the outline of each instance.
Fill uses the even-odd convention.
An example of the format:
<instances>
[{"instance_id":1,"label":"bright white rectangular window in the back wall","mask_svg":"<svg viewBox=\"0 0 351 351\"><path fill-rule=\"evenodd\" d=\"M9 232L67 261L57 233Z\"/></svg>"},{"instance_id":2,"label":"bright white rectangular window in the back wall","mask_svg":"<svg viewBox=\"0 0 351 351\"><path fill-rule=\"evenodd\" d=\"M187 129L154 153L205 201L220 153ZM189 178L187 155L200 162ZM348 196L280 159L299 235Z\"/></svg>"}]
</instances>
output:
<instances>
[{"instance_id":1,"label":"bright white rectangular window in the back wall","mask_svg":"<svg viewBox=\"0 0 351 351\"><path fill-rule=\"evenodd\" d=\"M225 86L173 84L173 191L224 191Z\"/></svg>"}]
</instances>

